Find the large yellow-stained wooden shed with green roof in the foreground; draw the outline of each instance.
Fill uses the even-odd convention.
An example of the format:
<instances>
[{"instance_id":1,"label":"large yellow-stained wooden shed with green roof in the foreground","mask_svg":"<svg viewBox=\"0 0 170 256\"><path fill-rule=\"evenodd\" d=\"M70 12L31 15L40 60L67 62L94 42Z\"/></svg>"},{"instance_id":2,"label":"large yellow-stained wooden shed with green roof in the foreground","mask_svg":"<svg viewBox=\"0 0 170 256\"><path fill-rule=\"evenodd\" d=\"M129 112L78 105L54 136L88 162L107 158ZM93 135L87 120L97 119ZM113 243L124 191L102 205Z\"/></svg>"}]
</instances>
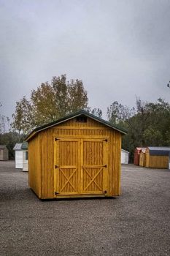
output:
<instances>
[{"instance_id":1,"label":"large yellow-stained wooden shed with green roof in the foreground","mask_svg":"<svg viewBox=\"0 0 170 256\"><path fill-rule=\"evenodd\" d=\"M42 199L120 195L125 133L85 110L34 129L26 138L29 186Z\"/></svg>"}]
</instances>

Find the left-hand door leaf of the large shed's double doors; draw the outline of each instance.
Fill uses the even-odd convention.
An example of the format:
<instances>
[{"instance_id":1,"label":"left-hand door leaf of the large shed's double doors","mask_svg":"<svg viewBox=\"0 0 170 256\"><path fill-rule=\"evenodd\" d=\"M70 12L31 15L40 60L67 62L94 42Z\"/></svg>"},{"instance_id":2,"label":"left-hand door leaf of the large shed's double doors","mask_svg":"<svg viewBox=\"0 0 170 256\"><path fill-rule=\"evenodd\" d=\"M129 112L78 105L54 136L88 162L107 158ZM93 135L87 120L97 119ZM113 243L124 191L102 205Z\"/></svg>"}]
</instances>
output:
<instances>
[{"instance_id":1,"label":"left-hand door leaf of the large shed's double doors","mask_svg":"<svg viewBox=\"0 0 170 256\"><path fill-rule=\"evenodd\" d=\"M60 138L56 142L55 195L79 194L80 140ZM56 194L56 192L58 194Z\"/></svg>"}]
</instances>

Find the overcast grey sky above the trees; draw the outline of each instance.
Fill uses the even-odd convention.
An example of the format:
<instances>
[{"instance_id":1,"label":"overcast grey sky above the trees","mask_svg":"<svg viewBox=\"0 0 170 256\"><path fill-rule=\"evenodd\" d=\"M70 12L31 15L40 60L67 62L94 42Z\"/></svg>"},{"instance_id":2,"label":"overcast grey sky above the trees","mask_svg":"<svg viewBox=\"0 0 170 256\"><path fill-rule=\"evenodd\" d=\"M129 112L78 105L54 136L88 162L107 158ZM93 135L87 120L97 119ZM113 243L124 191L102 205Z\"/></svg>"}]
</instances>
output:
<instances>
[{"instance_id":1,"label":"overcast grey sky above the trees","mask_svg":"<svg viewBox=\"0 0 170 256\"><path fill-rule=\"evenodd\" d=\"M135 95L170 102L169 0L0 0L0 102L15 102L52 77L81 79L89 105ZM104 115L105 118L105 115Z\"/></svg>"}]
</instances>

